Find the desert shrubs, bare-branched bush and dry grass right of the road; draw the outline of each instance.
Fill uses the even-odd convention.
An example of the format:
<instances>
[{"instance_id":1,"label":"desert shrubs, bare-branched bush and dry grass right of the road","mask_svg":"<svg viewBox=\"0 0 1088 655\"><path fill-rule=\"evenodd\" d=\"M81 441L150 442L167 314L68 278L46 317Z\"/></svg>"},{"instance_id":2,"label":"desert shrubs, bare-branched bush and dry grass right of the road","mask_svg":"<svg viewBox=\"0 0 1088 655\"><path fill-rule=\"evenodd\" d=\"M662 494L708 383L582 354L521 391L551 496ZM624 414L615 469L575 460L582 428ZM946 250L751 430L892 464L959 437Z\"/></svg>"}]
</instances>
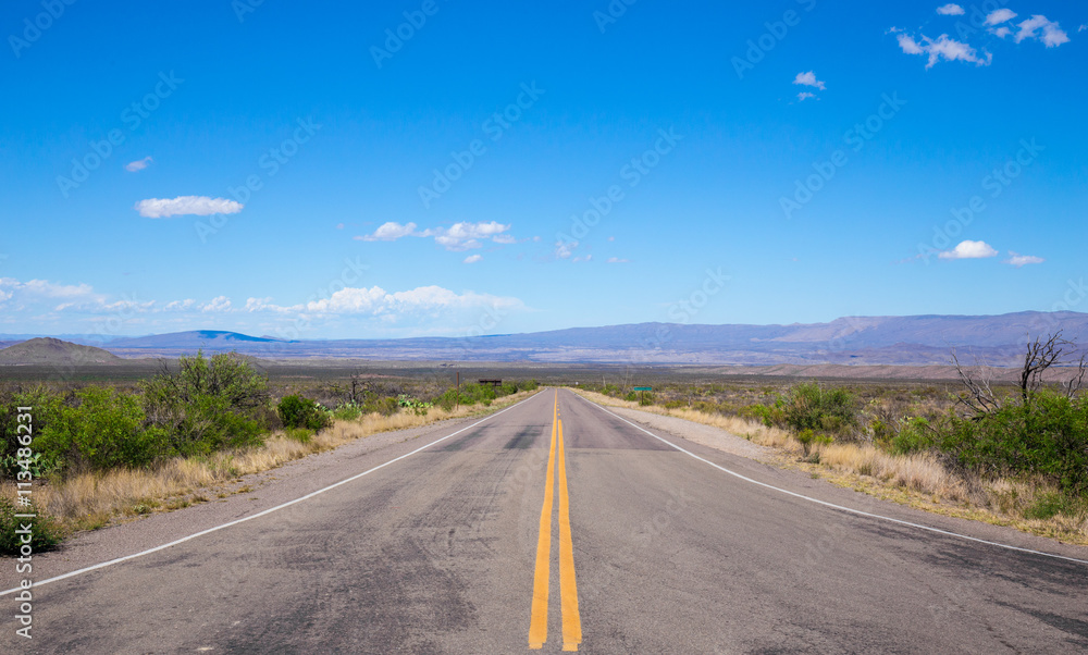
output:
<instances>
[{"instance_id":1,"label":"desert shrubs, bare-branched bush and dry grass right of the road","mask_svg":"<svg viewBox=\"0 0 1088 655\"><path fill-rule=\"evenodd\" d=\"M1060 333L1029 343L1015 385L956 361L957 388L680 384L642 409L724 428L878 495L1088 544L1088 367L1075 351ZM1063 381L1044 383L1048 369ZM596 388L588 395L639 407L619 386Z\"/></svg>"}]
</instances>

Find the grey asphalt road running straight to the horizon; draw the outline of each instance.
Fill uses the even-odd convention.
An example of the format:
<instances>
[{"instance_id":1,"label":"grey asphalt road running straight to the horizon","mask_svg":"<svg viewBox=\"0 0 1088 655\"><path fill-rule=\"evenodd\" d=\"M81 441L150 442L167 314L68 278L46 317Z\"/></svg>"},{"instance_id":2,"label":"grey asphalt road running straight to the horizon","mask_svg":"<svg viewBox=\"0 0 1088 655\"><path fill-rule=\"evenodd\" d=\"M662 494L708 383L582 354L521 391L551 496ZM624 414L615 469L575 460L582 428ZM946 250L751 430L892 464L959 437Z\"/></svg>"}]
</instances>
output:
<instances>
[{"instance_id":1,"label":"grey asphalt road running straight to the horizon","mask_svg":"<svg viewBox=\"0 0 1088 655\"><path fill-rule=\"evenodd\" d=\"M656 438L566 391L466 425L289 507L35 588L33 640L14 635L15 602L2 596L0 651L1088 651L1086 564L815 504L666 442L825 502L1058 544ZM456 432L443 430L334 472L346 479ZM1054 552L1088 559L1088 548ZM533 638L542 650L530 651Z\"/></svg>"}]
</instances>

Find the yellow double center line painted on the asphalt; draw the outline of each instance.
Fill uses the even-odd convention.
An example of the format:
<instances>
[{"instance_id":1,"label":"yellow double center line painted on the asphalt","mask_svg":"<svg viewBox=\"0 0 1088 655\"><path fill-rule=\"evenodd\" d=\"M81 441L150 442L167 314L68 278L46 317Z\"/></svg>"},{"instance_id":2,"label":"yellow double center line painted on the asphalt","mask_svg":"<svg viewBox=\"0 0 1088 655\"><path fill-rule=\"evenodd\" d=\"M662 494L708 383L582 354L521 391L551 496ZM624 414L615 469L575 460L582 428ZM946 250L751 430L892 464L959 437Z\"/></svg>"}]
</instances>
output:
<instances>
[{"instance_id":1,"label":"yellow double center line painted on the asphalt","mask_svg":"<svg viewBox=\"0 0 1088 655\"><path fill-rule=\"evenodd\" d=\"M582 643L582 619L578 614L578 583L574 580L574 545L570 539L570 498L567 494L567 465L559 420L559 392L552 413L552 446L547 456L547 481L541 508L541 533L536 541L536 570L533 576L533 607L529 622L529 647L543 648L547 641L547 593L552 569L552 504L555 489L556 454L559 456L559 602L562 613L562 650L577 651Z\"/></svg>"}]
</instances>

